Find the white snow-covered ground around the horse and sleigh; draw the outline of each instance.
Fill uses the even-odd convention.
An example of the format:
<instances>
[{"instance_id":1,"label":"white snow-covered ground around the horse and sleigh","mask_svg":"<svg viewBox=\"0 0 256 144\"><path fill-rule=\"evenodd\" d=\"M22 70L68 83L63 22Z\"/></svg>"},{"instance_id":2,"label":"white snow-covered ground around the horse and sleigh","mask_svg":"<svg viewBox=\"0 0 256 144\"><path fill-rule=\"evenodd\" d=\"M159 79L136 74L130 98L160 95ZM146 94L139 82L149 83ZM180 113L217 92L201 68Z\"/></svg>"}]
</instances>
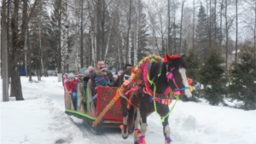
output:
<instances>
[{"instance_id":1,"label":"white snow-covered ground around the horse and sleigh","mask_svg":"<svg viewBox=\"0 0 256 144\"><path fill-rule=\"evenodd\" d=\"M33 80L36 80L33 77ZM56 77L42 78L29 83L21 77L25 101L2 101L2 144L55 144L106 143L131 144L132 135L123 140L119 130L105 130L93 135L79 118L64 112L62 83ZM172 144L256 144L256 111L230 107L212 107L206 102L178 101L169 117ZM147 144L164 144L160 118L153 113L148 117Z\"/></svg>"}]
</instances>

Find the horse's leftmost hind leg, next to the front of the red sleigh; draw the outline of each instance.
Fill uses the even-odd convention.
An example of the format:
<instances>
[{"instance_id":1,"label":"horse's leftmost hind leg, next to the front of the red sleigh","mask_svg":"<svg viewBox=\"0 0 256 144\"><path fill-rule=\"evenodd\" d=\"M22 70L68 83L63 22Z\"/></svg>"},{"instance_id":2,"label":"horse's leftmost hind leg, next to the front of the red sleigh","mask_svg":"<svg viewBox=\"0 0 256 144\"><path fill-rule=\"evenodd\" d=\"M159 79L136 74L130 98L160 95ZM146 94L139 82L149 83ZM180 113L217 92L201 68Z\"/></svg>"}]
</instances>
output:
<instances>
[{"instance_id":1,"label":"horse's leftmost hind leg, next to the front of the red sleigh","mask_svg":"<svg viewBox=\"0 0 256 144\"><path fill-rule=\"evenodd\" d=\"M122 108L122 112L123 112L123 127L121 128L121 133L122 133L122 137L124 139L126 139L128 136L129 136L129 133L128 133L128 128L127 128L127 121L128 121L128 109L127 109L127 106L128 106L128 102L120 97L120 103L121 103L121 108Z\"/></svg>"}]
</instances>

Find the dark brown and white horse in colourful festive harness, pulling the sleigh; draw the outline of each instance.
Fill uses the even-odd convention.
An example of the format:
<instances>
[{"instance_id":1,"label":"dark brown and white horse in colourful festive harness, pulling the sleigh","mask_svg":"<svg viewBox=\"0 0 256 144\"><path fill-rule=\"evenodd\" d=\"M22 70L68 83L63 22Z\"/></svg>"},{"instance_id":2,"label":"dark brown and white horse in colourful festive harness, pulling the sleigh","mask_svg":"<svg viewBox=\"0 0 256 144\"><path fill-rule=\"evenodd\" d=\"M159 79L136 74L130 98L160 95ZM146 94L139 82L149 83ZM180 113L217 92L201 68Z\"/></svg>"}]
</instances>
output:
<instances>
[{"instance_id":1,"label":"dark brown and white horse in colourful festive harness, pulling the sleigh","mask_svg":"<svg viewBox=\"0 0 256 144\"><path fill-rule=\"evenodd\" d=\"M126 139L129 133L134 131L134 144L144 144L147 117L150 113L157 112L162 120L165 142L170 144L172 140L168 115L171 110L169 111L168 104L172 101L172 97L168 94L173 92L173 95L178 95L180 100L189 101L192 94L189 91L186 77L187 66L183 60L184 55L166 55L164 59L158 58L158 60L152 60L155 56L148 57L149 62L140 62L137 68L135 66L127 69L120 75L119 101L123 112L121 134ZM148 71L148 77L145 76L145 74L147 75L145 71ZM126 80L125 77L130 77L130 79ZM140 124L141 130L138 129L138 124Z\"/></svg>"}]
</instances>

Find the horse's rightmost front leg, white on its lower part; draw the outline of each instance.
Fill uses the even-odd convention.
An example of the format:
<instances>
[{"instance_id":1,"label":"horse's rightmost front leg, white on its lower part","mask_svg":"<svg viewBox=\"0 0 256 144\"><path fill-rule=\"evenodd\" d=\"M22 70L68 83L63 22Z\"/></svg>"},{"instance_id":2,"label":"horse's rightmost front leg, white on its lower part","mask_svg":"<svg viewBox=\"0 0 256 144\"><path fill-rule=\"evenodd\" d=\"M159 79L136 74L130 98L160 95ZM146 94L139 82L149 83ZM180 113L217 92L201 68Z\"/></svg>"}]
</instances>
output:
<instances>
[{"instance_id":1,"label":"horse's rightmost front leg, white on its lower part","mask_svg":"<svg viewBox=\"0 0 256 144\"><path fill-rule=\"evenodd\" d=\"M165 117L166 114L169 112L169 108L166 106L164 107L164 111L163 112L159 112L160 116L161 117ZM167 116L164 120L164 122L162 122L163 124L163 131L164 131L164 135L165 135L165 140L166 140L166 144L170 144L171 143L171 137L170 137L170 134L171 134L171 129L170 129L170 126L169 126L169 122L168 122L168 118L169 116Z\"/></svg>"}]
</instances>

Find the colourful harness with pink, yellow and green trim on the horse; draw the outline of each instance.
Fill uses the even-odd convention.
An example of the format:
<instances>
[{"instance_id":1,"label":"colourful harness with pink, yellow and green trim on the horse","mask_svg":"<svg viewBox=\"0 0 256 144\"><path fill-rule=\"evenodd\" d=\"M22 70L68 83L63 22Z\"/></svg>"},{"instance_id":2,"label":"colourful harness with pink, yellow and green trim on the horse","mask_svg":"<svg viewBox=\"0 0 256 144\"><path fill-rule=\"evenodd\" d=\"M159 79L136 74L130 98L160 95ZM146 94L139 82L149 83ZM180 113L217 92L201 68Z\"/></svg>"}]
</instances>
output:
<instances>
[{"instance_id":1,"label":"colourful harness with pink, yellow and green trim on the horse","mask_svg":"<svg viewBox=\"0 0 256 144\"><path fill-rule=\"evenodd\" d=\"M171 55L166 55L166 56L168 56L172 60L180 58L180 56L171 56ZM173 84L175 84L176 89L174 89L174 92L172 92L172 89L170 87L168 87L165 90L165 92L162 94L158 94L155 92L156 85L154 84L154 80L150 80L149 78L149 74L150 74L149 72L153 62L162 62L162 65L166 64L166 78L168 82L169 80L172 80ZM159 117L160 117L160 114L157 112L155 101L158 101L159 103L162 103L164 105L170 105L172 103L172 96L173 97L176 96L176 101L171 107L171 109L169 110L169 112L166 114L166 116L160 117L161 121L164 122L165 118L168 117L168 115L172 112L172 109L175 107L176 102L179 101L179 95L181 94L181 90L189 89L189 87L184 87L180 89L177 86L176 80L172 73L174 70L175 70L175 67L170 67L170 71L169 71L168 60L166 57L162 59L160 56L149 55L145 57L143 60L139 61L137 66L134 66L132 68L130 77L125 75L125 77L129 77L129 78L128 80L125 80L124 78L124 83L120 87L119 95L125 98L125 100L128 101L131 105L133 105L125 95L128 95L131 91L133 91L133 93L139 92L142 89L141 88L142 84L144 83L145 85L143 87L143 93L150 95L149 101L154 102L154 111L157 113ZM160 75L161 75L161 69L157 77L160 77ZM151 85L153 86L153 90L150 89ZM131 93L131 96L132 96L132 93Z\"/></svg>"}]
</instances>

